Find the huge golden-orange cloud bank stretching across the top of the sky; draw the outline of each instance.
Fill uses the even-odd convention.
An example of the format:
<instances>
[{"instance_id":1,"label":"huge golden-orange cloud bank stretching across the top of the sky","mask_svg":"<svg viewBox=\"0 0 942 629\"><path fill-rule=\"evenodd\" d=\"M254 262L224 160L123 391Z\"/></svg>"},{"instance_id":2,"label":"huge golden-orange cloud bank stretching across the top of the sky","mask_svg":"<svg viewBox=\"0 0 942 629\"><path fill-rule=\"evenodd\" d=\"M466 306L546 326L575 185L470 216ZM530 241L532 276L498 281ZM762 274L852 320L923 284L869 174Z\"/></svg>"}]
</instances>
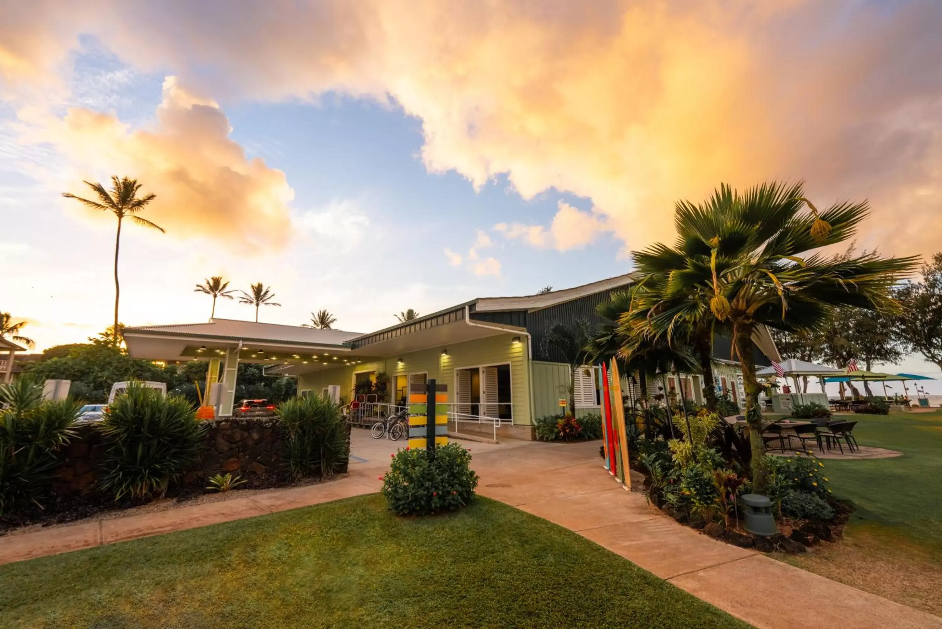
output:
<instances>
[{"instance_id":1,"label":"huge golden-orange cloud bank stretching across the top of the sky","mask_svg":"<svg viewBox=\"0 0 942 629\"><path fill-rule=\"evenodd\" d=\"M768 178L819 205L869 197L863 240L887 253L930 253L942 229L934 0L7 4L8 86L62 72L83 32L219 98L373 98L421 121L431 172L591 198L631 247L672 237L675 200ZM597 231L575 218L575 240L545 238Z\"/></svg>"}]
</instances>

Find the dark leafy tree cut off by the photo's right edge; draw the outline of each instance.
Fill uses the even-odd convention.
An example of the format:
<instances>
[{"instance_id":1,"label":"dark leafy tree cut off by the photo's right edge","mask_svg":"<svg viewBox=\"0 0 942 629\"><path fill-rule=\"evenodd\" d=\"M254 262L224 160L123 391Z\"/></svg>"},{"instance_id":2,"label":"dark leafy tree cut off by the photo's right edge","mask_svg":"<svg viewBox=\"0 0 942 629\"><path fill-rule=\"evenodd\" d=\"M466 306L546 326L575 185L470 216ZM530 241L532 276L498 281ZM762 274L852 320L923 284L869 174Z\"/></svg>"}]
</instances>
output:
<instances>
[{"instance_id":1,"label":"dark leafy tree cut off by the photo's right edge","mask_svg":"<svg viewBox=\"0 0 942 629\"><path fill-rule=\"evenodd\" d=\"M897 298L906 346L942 369L942 253L922 267L922 281L901 286Z\"/></svg>"}]
</instances>

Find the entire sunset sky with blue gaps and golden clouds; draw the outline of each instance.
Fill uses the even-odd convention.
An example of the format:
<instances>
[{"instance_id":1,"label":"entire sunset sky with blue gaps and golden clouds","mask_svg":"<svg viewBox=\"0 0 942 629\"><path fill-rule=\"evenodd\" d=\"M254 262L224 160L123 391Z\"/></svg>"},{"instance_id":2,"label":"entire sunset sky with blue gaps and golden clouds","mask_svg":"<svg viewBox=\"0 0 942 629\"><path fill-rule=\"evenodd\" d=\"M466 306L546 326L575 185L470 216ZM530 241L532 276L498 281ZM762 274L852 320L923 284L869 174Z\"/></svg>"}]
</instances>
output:
<instances>
[{"instance_id":1,"label":"entire sunset sky with blue gaps and golden clouds","mask_svg":"<svg viewBox=\"0 0 942 629\"><path fill-rule=\"evenodd\" d=\"M129 325L204 321L217 274L361 332L577 286L721 182L869 199L858 247L931 256L939 32L933 0L2 3L0 311L38 349L110 323L114 217L61 193L113 174L167 230L122 231Z\"/></svg>"}]
</instances>

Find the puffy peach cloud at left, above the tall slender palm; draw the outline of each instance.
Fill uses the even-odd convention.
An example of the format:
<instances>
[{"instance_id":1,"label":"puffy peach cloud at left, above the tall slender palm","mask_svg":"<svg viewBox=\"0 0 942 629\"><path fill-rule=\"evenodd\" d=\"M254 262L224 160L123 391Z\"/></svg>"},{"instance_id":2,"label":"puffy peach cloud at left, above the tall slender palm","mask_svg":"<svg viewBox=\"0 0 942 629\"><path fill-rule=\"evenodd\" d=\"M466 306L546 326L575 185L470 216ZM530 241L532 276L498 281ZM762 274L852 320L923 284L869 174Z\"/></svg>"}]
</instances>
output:
<instances>
[{"instance_id":1,"label":"puffy peach cloud at left, above the tall slender palm","mask_svg":"<svg viewBox=\"0 0 942 629\"><path fill-rule=\"evenodd\" d=\"M173 76L164 81L150 128L131 129L112 113L88 108L71 108L60 120L35 111L21 117L34 125L27 141L52 143L70 164L62 190L88 197L93 192L82 180L127 175L138 179L142 193L156 194L142 214L171 237L251 245L247 253L291 237L287 204L294 191L284 173L246 157L229 138L229 121L219 106L194 96Z\"/></svg>"}]
</instances>

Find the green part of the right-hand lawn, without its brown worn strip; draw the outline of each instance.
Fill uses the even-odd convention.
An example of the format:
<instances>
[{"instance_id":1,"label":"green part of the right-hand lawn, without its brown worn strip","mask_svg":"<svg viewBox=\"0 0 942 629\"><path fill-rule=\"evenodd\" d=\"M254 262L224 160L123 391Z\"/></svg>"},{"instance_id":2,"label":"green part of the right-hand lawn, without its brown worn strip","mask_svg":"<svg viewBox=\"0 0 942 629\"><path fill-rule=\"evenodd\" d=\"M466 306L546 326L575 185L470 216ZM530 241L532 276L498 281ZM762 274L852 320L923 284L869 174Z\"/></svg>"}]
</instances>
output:
<instances>
[{"instance_id":1,"label":"green part of the right-hand lawn, without its brown worn strip","mask_svg":"<svg viewBox=\"0 0 942 629\"><path fill-rule=\"evenodd\" d=\"M824 461L831 488L856 506L854 523L888 526L942 551L942 412L856 415L863 445L903 455Z\"/></svg>"}]
</instances>

